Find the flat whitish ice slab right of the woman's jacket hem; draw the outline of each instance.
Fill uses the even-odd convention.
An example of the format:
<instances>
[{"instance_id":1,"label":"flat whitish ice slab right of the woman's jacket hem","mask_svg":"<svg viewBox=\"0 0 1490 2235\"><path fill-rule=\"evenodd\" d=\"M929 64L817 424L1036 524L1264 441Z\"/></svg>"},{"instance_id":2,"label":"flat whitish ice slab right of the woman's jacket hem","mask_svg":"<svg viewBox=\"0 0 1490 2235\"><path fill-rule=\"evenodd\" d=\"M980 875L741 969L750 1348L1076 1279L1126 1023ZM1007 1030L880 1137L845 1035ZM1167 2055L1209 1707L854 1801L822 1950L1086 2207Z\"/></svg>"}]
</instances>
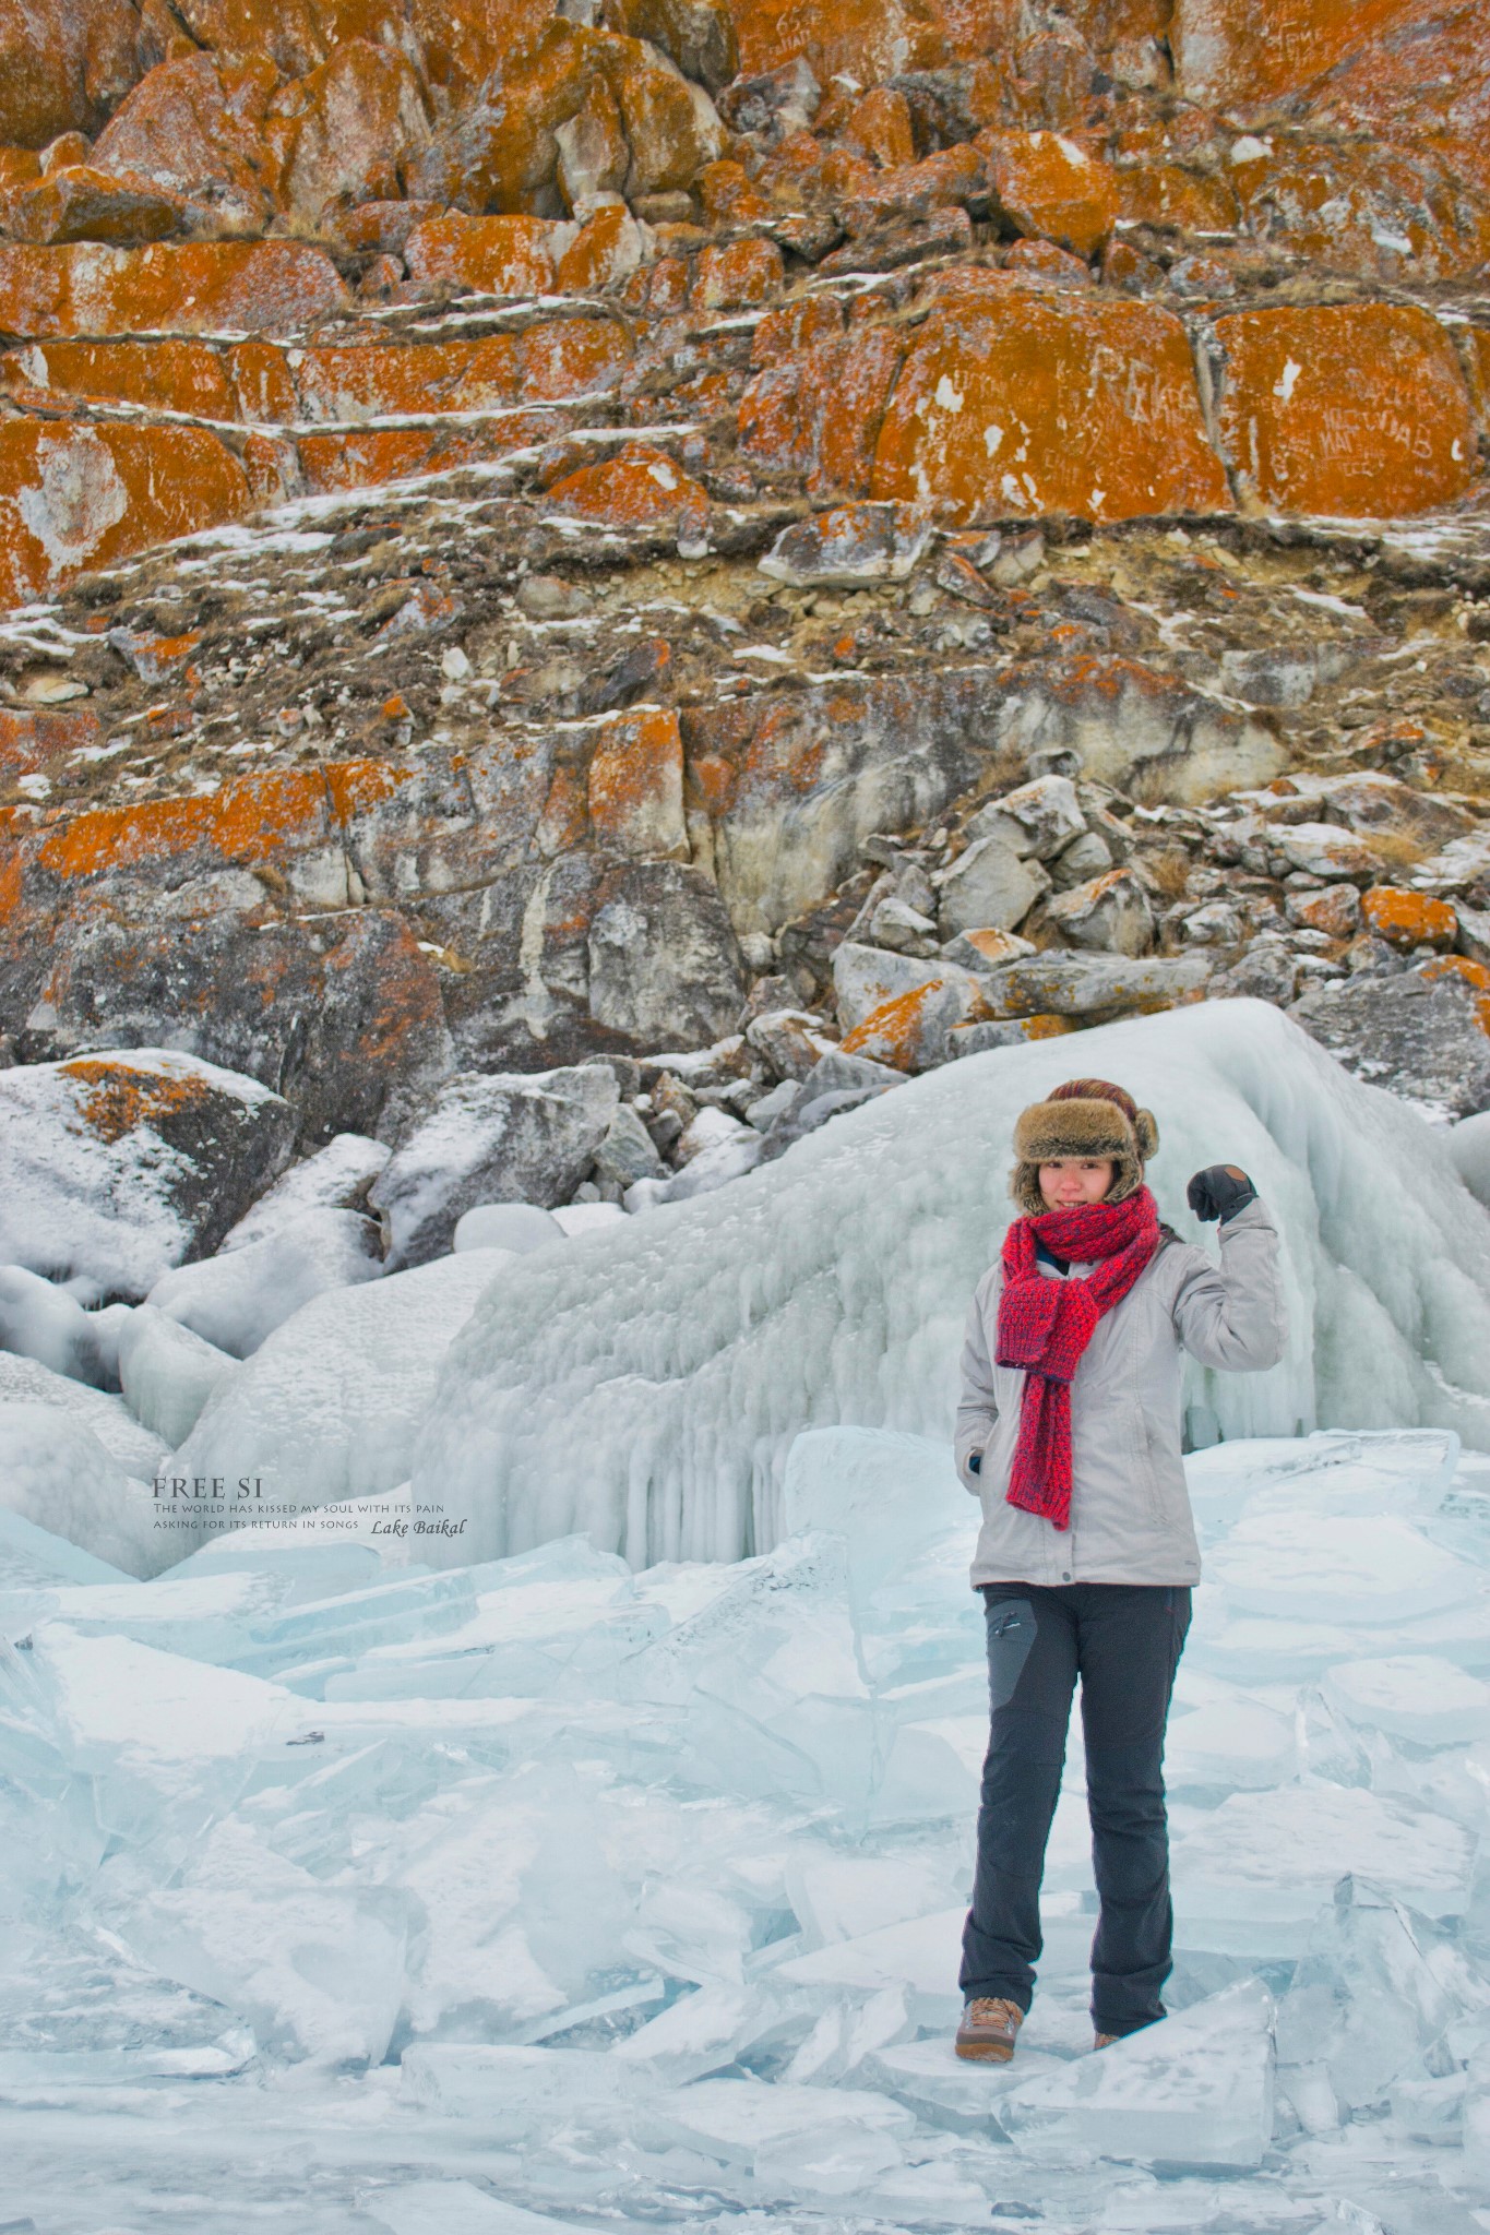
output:
<instances>
[{"instance_id":1,"label":"flat whitish ice slab right of the woman's jacket hem","mask_svg":"<svg viewBox=\"0 0 1490 2235\"><path fill-rule=\"evenodd\" d=\"M1206 1571L1235 1611L1351 1627L1441 1614L1483 1591L1477 1567L1396 1513L1247 1511Z\"/></svg>"}]
</instances>

